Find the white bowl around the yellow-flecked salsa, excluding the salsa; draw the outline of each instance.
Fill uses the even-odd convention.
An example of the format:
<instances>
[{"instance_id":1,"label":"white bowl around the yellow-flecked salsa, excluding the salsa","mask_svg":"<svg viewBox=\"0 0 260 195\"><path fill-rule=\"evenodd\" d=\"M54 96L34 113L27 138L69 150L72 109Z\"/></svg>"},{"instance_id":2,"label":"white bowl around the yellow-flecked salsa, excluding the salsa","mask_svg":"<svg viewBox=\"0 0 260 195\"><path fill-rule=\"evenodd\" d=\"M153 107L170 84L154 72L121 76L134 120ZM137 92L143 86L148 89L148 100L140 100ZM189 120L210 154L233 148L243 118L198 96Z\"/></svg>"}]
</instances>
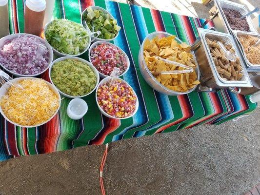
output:
<instances>
[{"instance_id":1,"label":"white bowl around the yellow-flecked salsa, excluding the salsa","mask_svg":"<svg viewBox=\"0 0 260 195\"><path fill-rule=\"evenodd\" d=\"M101 84L103 84L103 83L105 83L105 82L107 82L108 80L110 79L110 77L106 77L106 78L104 78L103 80L101 80L100 81L100 84L98 85L98 87L97 87L97 89L96 89L96 102L97 102L97 105L98 105L98 108L100 109L100 112L104 115L104 116L106 116L106 117L109 117L109 118L114 118L114 119L126 119L126 118L130 118L130 117L133 117L136 113L137 113L137 111L138 111L138 108L139 108L139 101L138 101L138 98L136 99L136 110L135 110L135 112L132 114L132 115L130 115L130 116L128 116L128 117L124 117L124 118L119 118L119 117L112 117L112 116L110 116L109 114L107 114L105 111L103 111L103 109L100 107L100 105L99 105L99 102L98 102L98 89L99 89L99 87L100 87L100 85ZM122 80L123 82L125 82L127 85L129 85L126 81L124 81L123 79L121 79L121 78L117 78L117 79L120 79L120 80ZM130 86L130 85L129 85ZM131 87L131 86L130 86ZM132 88L132 87L131 87ZM133 88L132 88L133 89ZM134 91L134 89L133 89L133 92L134 92L134 95L137 97L137 95L136 95L136 92Z\"/></svg>"}]
</instances>

